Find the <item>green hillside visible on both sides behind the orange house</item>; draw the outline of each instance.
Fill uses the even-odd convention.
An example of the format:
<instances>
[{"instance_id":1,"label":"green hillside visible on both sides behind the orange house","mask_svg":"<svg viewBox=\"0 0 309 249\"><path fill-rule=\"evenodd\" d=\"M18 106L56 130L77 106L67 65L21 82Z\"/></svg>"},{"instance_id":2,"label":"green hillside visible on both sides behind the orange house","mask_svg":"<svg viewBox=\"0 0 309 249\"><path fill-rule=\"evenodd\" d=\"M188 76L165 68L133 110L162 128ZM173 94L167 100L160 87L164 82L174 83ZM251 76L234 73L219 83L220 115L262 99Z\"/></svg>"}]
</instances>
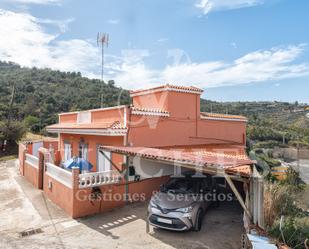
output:
<instances>
[{"instance_id":1,"label":"green hillside visible on both sides behind the orange house","mask_svg":"<svg viewBox=\"0 0 309 249\"><path fill-rule=\"evenodd\" d=\"M41 133L46 125L57 122L57 113L98 108L100 89L99 80L82 77L78 72L23 68L0 62L0 145L1 140L19 138L19 131L24 132L22 128ZM130 103L128 91L116 87L113 81L104 84L103 91L105 107ZM201 100L202 111L247 116L248 138L271 145L280 144L283 139L292 145L309 145L305 107L287 102ZM15 122L9 122L12 127L7 125L9 119Z\"/></svg>"}]
</instances>

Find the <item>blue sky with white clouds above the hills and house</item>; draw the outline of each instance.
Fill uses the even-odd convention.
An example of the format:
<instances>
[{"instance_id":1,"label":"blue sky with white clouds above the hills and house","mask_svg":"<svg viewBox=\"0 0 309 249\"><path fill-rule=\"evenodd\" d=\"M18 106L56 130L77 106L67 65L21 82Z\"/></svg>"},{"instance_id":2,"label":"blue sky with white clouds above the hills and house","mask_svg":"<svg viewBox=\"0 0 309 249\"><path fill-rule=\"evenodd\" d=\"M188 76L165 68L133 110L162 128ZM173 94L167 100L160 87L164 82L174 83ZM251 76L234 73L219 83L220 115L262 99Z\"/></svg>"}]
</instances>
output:
<instances>
[{"instance_id":1,"label":"blue sky with white clouds above the hills and house","mask_svg":"<svg viewBox=\"0 0 309 249\"><path fill-rule=\"evenodd\" d=\"M218 101L309 103L306 0L0 0L0 60L127 89L195 85Z\"/></svg>"}]
</instances>

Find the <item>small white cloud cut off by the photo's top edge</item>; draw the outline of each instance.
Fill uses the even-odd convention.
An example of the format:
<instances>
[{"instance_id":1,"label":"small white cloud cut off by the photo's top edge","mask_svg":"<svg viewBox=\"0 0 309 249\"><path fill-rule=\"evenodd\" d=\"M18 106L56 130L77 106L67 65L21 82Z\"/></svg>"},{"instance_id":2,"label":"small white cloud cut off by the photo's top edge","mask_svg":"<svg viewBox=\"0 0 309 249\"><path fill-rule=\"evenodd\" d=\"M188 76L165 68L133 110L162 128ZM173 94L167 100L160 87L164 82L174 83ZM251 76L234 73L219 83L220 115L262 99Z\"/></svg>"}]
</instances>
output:
<instances>
[{"instance_id":1,"label":"small white cloud cut off by the photo's top edge","mask_svg":"<svg viewBox=\"0 0 309 249\"><path fill-rule=\"evenodd\" d=\"M198 0L195 7L207 15L211 11L247 8L263 3L264 0Z\"/></svg>"}]
</instances>

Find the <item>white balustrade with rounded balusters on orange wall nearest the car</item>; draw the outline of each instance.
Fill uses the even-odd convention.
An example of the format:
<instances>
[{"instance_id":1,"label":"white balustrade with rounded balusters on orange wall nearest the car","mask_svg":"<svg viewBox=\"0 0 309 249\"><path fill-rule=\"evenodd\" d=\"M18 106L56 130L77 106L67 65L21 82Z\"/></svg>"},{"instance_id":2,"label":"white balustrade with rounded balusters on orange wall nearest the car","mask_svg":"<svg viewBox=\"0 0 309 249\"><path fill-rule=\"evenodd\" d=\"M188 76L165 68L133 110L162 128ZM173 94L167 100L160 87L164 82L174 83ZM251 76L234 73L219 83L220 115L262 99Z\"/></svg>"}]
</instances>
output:
<instances>
[{"instance_id":1,"label":"white balustrade with rounded balusters on orange wall nearest the car","mask_svg":"<svg viewBox=\"0 0 309 249\"><path fill-rule=\"evenodd\" d=\"M79 187L87 188L106 184L114 184L119 183L120 180L121 175L116 170L84 173L79 175Z\"/></svg>"}]
</instances>

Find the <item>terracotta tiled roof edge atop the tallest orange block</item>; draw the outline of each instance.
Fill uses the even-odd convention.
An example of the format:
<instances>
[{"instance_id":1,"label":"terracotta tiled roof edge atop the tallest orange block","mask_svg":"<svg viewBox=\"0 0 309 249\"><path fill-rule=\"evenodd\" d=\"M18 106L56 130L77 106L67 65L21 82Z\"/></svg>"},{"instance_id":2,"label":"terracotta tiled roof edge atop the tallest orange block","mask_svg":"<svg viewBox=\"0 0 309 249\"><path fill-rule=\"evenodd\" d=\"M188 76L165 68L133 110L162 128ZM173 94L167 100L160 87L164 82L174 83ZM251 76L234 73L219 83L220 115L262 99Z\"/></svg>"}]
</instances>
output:
<instances>
[{"instance_id":1,"label":"terracotta tiled roof edge atop the tallest orange block","mask_svg":"<svg viewBox=\"0 0 309 249\"><path fill-rule=\"evenodd\" d=\"M195 94L201 94L203 92L202 89L194 87L194 86L177 86L177 85L161 85L158 87L148 88L148 89L139 89L139 90L133 90L130 91L131 97L148 94L148 93L154 93L159 91L176 91L176 92L187 92L187 93L195 93Z\"/></svg>"}]
</instances>

